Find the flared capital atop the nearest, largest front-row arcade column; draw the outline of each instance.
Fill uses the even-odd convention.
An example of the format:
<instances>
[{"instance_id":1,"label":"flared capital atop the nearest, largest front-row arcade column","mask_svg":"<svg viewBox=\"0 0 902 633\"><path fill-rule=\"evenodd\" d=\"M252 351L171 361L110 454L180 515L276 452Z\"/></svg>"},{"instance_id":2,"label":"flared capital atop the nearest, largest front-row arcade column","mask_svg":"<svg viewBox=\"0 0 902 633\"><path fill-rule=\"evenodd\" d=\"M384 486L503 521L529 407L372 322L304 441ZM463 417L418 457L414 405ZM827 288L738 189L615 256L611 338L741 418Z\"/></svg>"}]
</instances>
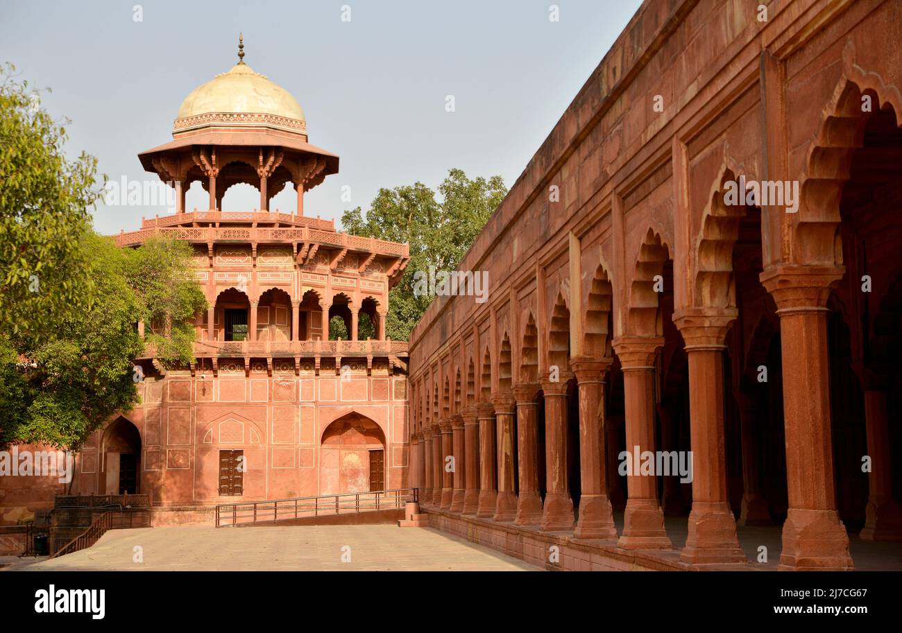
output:
<instances>
[{"instance_id":1,"label":"flared capital atop the nearest, largest front-row arcade column","mask_svg":"<svg viewBox=\"0 0 902 633\"><path fill-rule=\"evenodd\" d=\"M764 288L777 302L777 313L827 309L833 286L842 279L845 266L783 265L759 275Z\"/></svg>"}]
</instances>

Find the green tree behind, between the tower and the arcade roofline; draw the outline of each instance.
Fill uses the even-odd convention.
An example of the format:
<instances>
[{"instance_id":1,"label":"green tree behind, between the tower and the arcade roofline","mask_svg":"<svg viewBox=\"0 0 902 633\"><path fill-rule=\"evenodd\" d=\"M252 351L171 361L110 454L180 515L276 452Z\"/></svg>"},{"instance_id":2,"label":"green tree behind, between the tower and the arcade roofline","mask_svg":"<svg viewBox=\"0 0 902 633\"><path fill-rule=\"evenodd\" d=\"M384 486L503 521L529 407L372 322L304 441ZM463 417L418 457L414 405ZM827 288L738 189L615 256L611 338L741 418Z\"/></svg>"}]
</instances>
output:
<instances>
[{"instance_id":1,"label":"green tree behind, between the tower and the arcade roofline","mask_svg":"<svg viewBox=\"0 0 902 633\"><path fill-rule=\"evenodd\" d=\"M476 235L501 204L507 188L500 176L468 179L463 170L449 170L436 192L421 182L393 189L382 188L365 216L361 208L345 211L347 233L410 243L410 264L389 293L385 333L406 341L432 296L416 297L416 271L453 271Z\"/></svg>"}]
</instances>

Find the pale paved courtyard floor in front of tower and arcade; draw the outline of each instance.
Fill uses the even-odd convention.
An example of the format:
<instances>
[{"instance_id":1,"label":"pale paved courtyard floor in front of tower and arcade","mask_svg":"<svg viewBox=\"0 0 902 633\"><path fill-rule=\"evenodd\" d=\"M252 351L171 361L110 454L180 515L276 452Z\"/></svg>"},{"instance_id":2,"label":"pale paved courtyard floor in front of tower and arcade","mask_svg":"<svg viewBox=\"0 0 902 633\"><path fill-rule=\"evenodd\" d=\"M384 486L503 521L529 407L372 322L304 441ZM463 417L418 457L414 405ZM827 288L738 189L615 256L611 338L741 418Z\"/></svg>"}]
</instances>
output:
<instances>
[{"instance_id":1,"label":"pale paved courtyard floor in front of tower and arcade","mask_svg":"<svg viewBox=\"0 0 902 633\"><path fill-rule=\"evenodd\" d=\"M133 562L135 546L143 548L143 563ZM350 547L349 562L342 561L345 546ZM428 527L368 525L117 529L75 554L7 569L516 572L538 568Z\"/></svg>"}]
</instances>

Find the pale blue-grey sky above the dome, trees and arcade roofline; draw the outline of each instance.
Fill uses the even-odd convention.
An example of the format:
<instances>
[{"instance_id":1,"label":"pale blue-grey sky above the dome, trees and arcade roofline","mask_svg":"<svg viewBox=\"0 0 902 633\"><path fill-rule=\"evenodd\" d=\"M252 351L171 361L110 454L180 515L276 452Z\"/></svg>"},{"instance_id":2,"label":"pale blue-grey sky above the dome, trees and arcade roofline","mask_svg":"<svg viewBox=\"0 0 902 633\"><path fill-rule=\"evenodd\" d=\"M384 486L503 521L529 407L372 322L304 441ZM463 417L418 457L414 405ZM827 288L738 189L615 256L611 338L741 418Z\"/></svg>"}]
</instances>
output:
<instances>
[{"instance_id":1,"label":"pale blue-grey sky above the dome, trees and arcade roofline","mask_svg":"<svg viewBox=\"0 0 902 633\"><path fill-rule=\"evenodd\" d=\"M143 22L133 20L136 4ZM553 4L557 23L548 19ZM640 4L2 0L0 61L52 88L43 103L72 120L70 153L94 154L110 179L147 179L137 153L170 141L182 99L235 64L244 32L244 60L298 99L309 141L341 157L339 173L305 197L306 215L337 221L346 208L368 208L381 187L436 187L454 167L500 174L511 187ZM235 187L223 208L259 203L254 190ZM187 206L206 208L207 197L192 190ZM272 206L290 212L293 192ZM114 234L165 213L100 206L94 217Z\"/></svg>"}]
</instances>

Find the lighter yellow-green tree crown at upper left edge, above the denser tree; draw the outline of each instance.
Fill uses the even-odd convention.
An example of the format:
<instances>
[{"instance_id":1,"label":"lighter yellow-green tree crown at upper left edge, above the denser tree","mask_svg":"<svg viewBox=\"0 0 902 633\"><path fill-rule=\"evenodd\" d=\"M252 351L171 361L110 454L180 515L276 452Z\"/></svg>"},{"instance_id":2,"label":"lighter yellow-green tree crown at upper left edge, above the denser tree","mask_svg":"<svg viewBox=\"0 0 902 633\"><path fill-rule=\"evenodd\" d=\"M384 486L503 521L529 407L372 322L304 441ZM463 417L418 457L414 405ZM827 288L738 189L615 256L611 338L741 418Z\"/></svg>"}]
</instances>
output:
<instances>
[{"instance_id":1,"label":"lighter yellow-green tree crown at upper left edge, above the denser tree","mask_svg":"<svg viewBox=\"0 0 902 633\"><path fill-rule=\"evenodd\" d=\"M0 331L40 338L92 292L80 242L102 188L97 160L67 159L65 122L14 71L0 68Z\"/></svg>"}]
</instances>

